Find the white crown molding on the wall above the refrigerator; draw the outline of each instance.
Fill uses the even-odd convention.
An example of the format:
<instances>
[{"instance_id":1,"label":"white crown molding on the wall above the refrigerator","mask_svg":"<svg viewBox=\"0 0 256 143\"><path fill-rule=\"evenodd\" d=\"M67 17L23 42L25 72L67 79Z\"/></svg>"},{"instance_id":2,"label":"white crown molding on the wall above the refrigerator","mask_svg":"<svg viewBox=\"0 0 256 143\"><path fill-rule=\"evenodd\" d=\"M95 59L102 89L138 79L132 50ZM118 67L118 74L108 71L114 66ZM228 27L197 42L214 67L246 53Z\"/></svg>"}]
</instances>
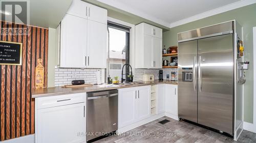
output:
<instances>
[{"instance_id":1,"label":"white crown molding on the wall above the refrigerator","mask_svg":"<svg viewBox=\"0 0 256 143\"><path fill-rule=\"evenodd\" d=\"M199 20L199 19L203 19L203 18L212 16L212 15L216 15L216 14L227 12L227 11L230 11L230 10L233 10L233 9L248 6L248 5L251 5L251 4L254 4L254 3L256 3L256 0L242 0L242 1L239 1L239 2L236 2L236 3L232 3L232 4L229 4L229 5L217 8L217 9L213 9L213 10L210 10L210 11L207 11L207 12L204 12L204 13L200 13L200 14L185 18L185 19L182 19L182 20L179 20L179 21L176 21L176 22L172 22L172 23L170 23L170 25L168 27L169 28L176 27L176 26L179 26L179 25L183 25L183 24L186 24L186 23L189 23L189 22L193 22L193 21L196 21L196 20Z\"/></svg>"}]
</instances>

